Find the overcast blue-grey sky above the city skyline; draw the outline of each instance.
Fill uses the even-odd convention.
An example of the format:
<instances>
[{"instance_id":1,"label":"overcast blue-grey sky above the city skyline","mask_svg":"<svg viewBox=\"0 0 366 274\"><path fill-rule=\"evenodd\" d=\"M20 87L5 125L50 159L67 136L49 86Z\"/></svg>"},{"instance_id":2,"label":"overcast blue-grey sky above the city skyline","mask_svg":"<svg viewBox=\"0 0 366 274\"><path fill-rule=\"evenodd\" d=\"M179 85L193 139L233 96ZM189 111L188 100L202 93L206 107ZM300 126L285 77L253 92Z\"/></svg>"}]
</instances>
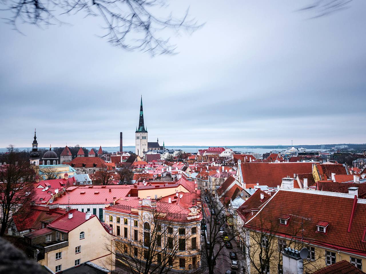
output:
<instances>
[{"instance_id":1,"label":"overcast blue-grey sky above the city skyline","mask_svg":"<svg viewBox=\"0 0 366 274\"><path fill-rule=\"evenodd\" d=\"M31 146L34 128L40 146L134 145L141 94L167 146L364 143L366 1L318 19L296 12L309 1L179 1L164 13L206 24L154 58L83 14L26 35L1 22L0 147Z\"/></svg>"}]
</instances>

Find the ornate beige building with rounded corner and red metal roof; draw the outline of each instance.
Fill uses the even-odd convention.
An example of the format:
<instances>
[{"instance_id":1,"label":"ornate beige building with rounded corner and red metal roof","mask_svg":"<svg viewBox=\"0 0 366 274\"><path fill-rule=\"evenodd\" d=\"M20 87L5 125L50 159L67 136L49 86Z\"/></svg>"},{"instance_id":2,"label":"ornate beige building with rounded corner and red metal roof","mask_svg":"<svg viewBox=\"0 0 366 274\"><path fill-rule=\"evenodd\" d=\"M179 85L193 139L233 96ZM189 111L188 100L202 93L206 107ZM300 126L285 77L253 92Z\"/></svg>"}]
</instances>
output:
<instances>
[{"instance_id":1,"label":"ornate beige building with rounded corner and red metal roof","mask_svg":"<svg viewBox=\"0 0 366 274\"><path fill-rule=\"evenodd\" d=\"M143 262L151 256L153 265L165 262L178 271L201 266L202 213L196 193L181 192L158 202L139 198L117 202L104 209L105 222L116 236L116 252L121 254L117 259L132 256Z\"/></svg>"}]
</instances>

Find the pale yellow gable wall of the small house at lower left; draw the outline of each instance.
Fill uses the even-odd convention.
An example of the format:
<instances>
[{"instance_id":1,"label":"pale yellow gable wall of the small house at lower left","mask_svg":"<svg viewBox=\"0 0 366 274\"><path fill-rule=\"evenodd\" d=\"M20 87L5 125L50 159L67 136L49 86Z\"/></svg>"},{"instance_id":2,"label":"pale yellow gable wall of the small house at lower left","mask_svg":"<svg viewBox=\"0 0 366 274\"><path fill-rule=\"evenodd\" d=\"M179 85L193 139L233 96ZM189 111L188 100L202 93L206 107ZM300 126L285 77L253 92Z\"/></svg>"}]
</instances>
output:
<instances>
[{"instance_id":1,"label":"pale yellow gable wall of the small house at lower left","mask_svg":"<svg viewBox=\"0 0 366 274\"><path fill-rule=\"evenodd\" d=\"M80 232L85 232L85 239L79 239ZM75 260L80 259L80 263L89 262L101 256L111 254L105 249L105 244L110 243L110 236L102 227L97 217L84 222L68 234L68 247L60 248L45 254L45 259L40 261L41 265L48 266L55 271L57 265L62 265L62 270L75 266ZM75 247L81 246L81 252L75 254ZM62 252L62 258L56 260L56 253ZM101 266L113 270L111 265L112 255L105 256L98 260Z\"/></svg>"}]
</instances>

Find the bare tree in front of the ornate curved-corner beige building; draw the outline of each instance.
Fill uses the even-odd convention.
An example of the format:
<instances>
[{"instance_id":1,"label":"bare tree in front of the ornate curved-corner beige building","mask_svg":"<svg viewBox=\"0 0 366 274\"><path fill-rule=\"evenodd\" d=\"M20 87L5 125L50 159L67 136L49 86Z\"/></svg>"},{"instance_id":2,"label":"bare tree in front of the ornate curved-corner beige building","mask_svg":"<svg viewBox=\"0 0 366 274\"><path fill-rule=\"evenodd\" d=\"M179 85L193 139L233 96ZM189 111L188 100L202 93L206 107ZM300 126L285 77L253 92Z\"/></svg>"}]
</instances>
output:
<instances>
[{"instance_id":1,"label":"bare tree in front of the ornate curved-corner beige building","mask_svg":"<svg viewBox=\"0 0 366 274\"><path fill-rule=\"evenodd\" d=\"M156 202L152 205L154 203L156 206ZM185 230L183 234L180 229L173 228L177 225L170 216L173 213L167 213L169 210L164 206L158 210L153 206L149 210L150 219L138 221L140 227L135 227L133 235L113 237L112 248L106 246L127 273L169 273L179 265L179 256L188 256L189 249L195 245L195 242L188 243L191 237ZM199 251L199 246L193 248Z\"/></svg>"}]
</instances>

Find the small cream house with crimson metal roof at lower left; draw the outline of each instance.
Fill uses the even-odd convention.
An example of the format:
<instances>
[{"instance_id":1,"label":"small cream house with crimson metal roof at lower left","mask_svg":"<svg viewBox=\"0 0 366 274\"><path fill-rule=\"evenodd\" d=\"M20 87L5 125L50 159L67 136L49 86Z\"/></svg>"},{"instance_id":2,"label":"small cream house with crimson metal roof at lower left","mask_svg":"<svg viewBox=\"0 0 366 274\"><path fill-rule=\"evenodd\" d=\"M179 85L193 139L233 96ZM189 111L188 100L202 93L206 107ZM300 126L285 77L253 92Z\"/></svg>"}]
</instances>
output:
<instances>
[{"instance_id":1,"label":"small cream house with crimson metal roof at lower left","mask_svg":"<svg viewBox=\"0 0 366 274\"><path fill-rule=\"evenodd\" d=\"M114 254L104 248L109 236L97 216L71 209L24 238L38 263L58 273L87 262L114 270Z\"/></svg>"}]
</instances>

